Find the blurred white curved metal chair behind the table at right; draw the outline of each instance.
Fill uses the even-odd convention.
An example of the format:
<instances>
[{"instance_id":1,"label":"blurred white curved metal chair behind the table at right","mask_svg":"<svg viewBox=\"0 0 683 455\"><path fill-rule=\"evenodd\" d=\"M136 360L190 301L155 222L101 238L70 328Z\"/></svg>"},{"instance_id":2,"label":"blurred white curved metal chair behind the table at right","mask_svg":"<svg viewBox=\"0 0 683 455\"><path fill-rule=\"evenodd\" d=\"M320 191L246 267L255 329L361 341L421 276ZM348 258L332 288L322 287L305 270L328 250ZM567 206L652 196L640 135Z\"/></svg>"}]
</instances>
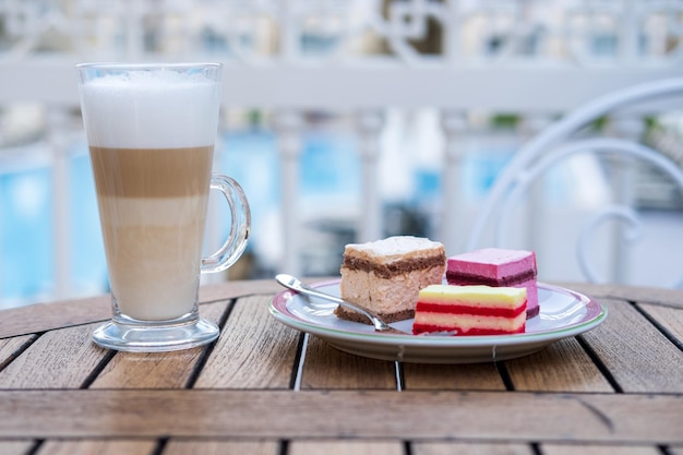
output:
<instances>
[{"instance_id":1,"label":"blurred white curved metal chair behind the table at right","mask_svg":"<svg viewBox=\"0 0 683 455\"><path fill-rule=\"evenodd\" d=\"M668 175L678 190L683 191L681 167L660 151L638 141L582 134L586 125L608 116L610 118L618 116L619 119L631 119L632 123L626 122L624 124L634 127L638 124L633 122L636 117L642 119L645 115L660 113L676 108L679 112L683 112L683 77L652 81L609 93L574 109L551 123L526 143L500 173L476 215L466 250L484 246L505 247L505 242L508 241L505 238L506 227L510 226L506 220L510 219L515 207L519 206L519 196L551 166L587 151L594 154L614 154L618 157L631 156L645 160ZM640 134L636 135L639 136ZM680 146L683 147L683 144ZM623 221L620 224L622 227L620 235L623 236L623 239L618 240L618 249L621 248L619 242L622 240L632 241L637 237L640 217L628 197L620 200L619 195L615 195L613 203L608 204L607 207L591 216L582 227L576 254L580 271L589 282L607 280L604 276L600 276L591 260L595 252L591 252L589 239L598 226L606 220ZM491 227L494 228L491 229ZM491 237L493 240L487 240ZM679 241L679 239L671 240ZM556 241L566 240L558 238ZM680 256L673 251L671 254ZM619 267L620 264L618 263L623 261L623 258L619 253L613 254L612 262L616 262L616 264L612 265ZM652 266L657 267L658 264L652 264ZM679 279L674 286L681 287L682 285L683 278Z\"/></svg>"}]
</instances>

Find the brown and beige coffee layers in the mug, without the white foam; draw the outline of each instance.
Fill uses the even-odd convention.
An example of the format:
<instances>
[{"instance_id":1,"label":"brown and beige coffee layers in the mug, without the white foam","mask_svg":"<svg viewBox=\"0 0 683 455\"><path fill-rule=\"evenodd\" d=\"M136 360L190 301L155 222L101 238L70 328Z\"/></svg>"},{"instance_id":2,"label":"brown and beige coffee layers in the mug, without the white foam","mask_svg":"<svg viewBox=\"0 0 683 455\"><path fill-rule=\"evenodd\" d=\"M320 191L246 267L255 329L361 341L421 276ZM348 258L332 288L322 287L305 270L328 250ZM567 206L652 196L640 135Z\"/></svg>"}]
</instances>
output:
<instances>
[{"instance_id":1,"label":"brown and beige coffee layers in the mug, without the white foam","mask_svg":"<svg viewBox=\"0 0 683 455\"><path fill-rule=\"evenodd\" d=\"M123 314L169 320L192 311L212 156L213 146L91 147L109 280Z\"/></svg>"}]
</instances>

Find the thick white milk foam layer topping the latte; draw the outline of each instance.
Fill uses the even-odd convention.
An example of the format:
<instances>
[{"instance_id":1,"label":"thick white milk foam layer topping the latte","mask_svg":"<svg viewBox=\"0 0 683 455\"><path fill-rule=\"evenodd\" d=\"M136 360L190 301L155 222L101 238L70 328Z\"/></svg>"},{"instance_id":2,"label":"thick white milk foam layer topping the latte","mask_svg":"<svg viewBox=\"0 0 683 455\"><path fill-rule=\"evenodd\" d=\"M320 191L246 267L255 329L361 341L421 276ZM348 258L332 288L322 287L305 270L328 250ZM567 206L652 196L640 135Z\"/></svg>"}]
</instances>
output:
<instances>
[{"instance_id":1,"label":"thick white milk foam layer topping the latte","mask_svg":"<svg viewBox=\"0 0 683 455\"><path fill-rule=\"evenodd\" d=\"M177 148L213 144L219 83L172 70L131 71L81 85L91 146Z\"/></svg>"}]
</instances>

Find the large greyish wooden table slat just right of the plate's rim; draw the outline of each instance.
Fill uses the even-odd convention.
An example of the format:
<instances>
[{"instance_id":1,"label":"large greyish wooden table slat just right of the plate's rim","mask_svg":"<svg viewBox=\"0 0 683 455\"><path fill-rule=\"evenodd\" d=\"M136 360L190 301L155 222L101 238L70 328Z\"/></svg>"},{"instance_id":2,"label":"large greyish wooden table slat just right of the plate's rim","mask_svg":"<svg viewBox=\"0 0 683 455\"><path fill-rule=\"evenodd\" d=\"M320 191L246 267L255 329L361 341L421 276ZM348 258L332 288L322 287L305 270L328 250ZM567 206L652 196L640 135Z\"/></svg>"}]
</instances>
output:
<instances>
[{"instance_id":1,"label":"large greyish wooden table slat just right of the plate's rim","mask_svg":"<svg viewBox=\"0 0 683 455\"><path fill-rule=\"evenodd\" d=\"M632 306L606 300L607 321L583 335L624 392L683 393L683 352Z\"/></svg>"}]
</instances>

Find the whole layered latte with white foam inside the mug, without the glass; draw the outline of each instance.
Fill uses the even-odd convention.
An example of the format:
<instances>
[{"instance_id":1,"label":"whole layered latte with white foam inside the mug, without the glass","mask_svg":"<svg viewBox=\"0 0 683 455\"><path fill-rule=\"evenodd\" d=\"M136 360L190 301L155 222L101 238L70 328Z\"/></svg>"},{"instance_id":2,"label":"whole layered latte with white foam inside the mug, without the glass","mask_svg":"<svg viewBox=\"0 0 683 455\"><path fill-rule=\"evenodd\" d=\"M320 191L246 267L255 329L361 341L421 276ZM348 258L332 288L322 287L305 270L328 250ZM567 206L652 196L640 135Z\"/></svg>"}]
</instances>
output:
<instances>
[{"instance_id":1,"label":"whole layered latte with white foam inside the mug, without the glass","mask_svg":"<svg viewBox=\"0 0 683 455\"><path fill-rule=\"evenodd\" d=\"M125 318L196 310L217 85L157 71L81 87L115 311Z\"/></svg>"}]
</instances>

